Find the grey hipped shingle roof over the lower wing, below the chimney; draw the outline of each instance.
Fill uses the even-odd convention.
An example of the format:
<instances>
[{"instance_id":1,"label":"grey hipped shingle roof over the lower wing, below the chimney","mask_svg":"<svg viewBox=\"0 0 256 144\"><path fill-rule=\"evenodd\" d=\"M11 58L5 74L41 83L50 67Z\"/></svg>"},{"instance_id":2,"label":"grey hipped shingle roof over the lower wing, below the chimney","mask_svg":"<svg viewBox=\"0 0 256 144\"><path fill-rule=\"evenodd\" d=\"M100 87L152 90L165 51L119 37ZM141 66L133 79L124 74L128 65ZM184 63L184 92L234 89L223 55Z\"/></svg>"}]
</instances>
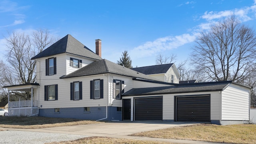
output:
<instances>
[{"instance_id":1,"label":"grey hipped shingle roof over the lower wing, below the chimney","mask_svg":"<svg viewBox=\"0 0 256 144\"><path fill-rule=\"evenodd\" d=\"M105 73L112 73L112 74L118 74L123 76L129 76L132 78L142 78L146 80L159 81L156 78L153 78L151 76L147 76L145 74L136 72L129 68L120 66L119 64L115 64L114 62L110 62L106 59L92 62L87 66L84 66L79 70L76 70L75 72L72 72L66 76L62 76L60 78L72 78L72 77L78 77L78 76L87 76L87 75L105 74Z\"/></svg>"}]
</instances>

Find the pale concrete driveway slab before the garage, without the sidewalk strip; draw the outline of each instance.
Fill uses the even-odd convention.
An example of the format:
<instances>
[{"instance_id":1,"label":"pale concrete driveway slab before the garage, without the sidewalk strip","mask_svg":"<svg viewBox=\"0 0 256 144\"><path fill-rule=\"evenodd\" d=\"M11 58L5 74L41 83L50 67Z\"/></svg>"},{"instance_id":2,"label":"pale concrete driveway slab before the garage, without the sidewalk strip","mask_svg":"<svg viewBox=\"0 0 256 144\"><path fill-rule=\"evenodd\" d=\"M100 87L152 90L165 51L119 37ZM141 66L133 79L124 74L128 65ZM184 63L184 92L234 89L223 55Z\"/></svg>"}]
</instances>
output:
<instances>
[{"instance_id":1,"label":"pale concrete driveway slab before the garage, without the sidewalk strip","mask_svg":"<svg viewBox=\"0 0 256 144\"><path fill-rule=\"evenodd\" d=\"M40 128L37 132L56 132L64 134L79 134L87 136L107 136L120 138L137 132L159 130L175 126L188 126L196 122L162 122L162 121L129 121L104 122L100 124L86 124L78 126L61 126L54 128ZM31 131L31 129L30 129Z\"/></svg>"}]
</instances>

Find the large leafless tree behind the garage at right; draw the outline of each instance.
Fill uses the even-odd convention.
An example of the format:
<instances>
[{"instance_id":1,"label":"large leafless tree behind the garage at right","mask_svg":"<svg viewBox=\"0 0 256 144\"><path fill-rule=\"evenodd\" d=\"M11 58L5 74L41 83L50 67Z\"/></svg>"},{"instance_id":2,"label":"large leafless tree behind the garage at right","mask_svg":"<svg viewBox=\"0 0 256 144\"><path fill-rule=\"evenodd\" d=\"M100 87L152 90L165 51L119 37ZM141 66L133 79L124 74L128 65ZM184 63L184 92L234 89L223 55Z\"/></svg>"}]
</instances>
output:
<instances>
[{"instance_id":1,"label":"large leafless tree behind the garage at right","mask_svg":"<svg viewBox=\"0 0 256 144\"><path fill-rule=\"evenodd\" d=\"M234 16L201 32L195 42L191 61L209 80L243 84L254 72L256 33Z\"/></svg>"}]
</instances>

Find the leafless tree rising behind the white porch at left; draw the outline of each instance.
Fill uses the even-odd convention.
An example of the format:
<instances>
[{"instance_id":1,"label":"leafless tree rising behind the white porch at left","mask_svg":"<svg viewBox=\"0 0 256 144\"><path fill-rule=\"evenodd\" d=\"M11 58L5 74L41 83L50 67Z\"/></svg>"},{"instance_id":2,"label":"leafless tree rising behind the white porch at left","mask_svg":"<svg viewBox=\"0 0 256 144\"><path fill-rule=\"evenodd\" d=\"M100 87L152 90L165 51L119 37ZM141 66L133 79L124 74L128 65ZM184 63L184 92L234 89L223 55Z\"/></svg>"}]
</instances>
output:
<instances>
[{"instance_id":1,"label":"leafless tree rising behind the white porch at left","mask_svg":"<svg viewBox=\"0 0 256 144\"><path fill-rule=\"evenodd\" d=\"M6 78L9 76L7 85L27 84L36 82L36 61L31 60L33 56L42 52L44 48L54 42L47 30L36 30L32 36L22 32L8 32L5 37L6 58L9 73L6 72ZM26 100L30 99L30 94L26 93Z\"/></svg>"}]
</instances>

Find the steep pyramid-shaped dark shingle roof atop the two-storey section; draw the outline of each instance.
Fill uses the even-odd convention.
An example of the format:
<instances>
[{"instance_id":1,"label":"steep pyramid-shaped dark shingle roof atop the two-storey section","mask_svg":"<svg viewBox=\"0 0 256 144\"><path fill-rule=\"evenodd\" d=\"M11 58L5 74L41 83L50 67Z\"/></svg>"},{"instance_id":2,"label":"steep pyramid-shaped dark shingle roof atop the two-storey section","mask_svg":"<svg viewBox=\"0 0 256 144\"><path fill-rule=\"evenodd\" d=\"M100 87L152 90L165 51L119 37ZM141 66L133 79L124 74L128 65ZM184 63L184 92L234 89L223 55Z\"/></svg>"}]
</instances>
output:
<instances>
[{"instance_id":1,"label":"steep pyramid-shaped dark shingle roof atop the two-storey section","mask_svg":"<svg viewBox=\"0 0 256 144\"><path fill-rule=\"evenodd\" d=\"M31 59L34 60L36 58L43 58L46 56L53 56L62 53L76 54L78 56L84 56L96 60L102 59L100 58L100 56L92 52L92 50L84 46L81 42L76 40L70 34L64 36L64 38L58 40L57 42L55 42L54 44L52 44L51 46L49 46L44 51L40 52Z\"/></svg>"}]
</instances>

